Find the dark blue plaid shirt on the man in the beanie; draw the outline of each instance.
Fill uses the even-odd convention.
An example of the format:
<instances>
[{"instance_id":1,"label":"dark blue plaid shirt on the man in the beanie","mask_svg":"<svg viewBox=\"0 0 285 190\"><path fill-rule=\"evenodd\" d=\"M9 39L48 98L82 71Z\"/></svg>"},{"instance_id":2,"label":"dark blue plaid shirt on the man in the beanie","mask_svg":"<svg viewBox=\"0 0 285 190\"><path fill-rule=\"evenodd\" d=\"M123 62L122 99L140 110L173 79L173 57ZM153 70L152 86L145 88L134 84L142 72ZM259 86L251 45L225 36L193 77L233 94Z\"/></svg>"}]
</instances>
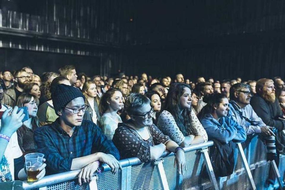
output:
<instances>
[{"instance_id":1,"label":"dark blue plaid shirt on the man in the beanie","mask_svg":"<svg viewBox=\"0 0 285 190\"><path fill-rule=\"evenodd\" d=\"M71 170L72 159L103 152L120 159L118 149L112 141L107 140L101 129L91 121L83 120L76 126L71 137L59 125L59 118L52 124L34 131L37 151L46 159L47 174Z\"/></svg>"}]
</instances>

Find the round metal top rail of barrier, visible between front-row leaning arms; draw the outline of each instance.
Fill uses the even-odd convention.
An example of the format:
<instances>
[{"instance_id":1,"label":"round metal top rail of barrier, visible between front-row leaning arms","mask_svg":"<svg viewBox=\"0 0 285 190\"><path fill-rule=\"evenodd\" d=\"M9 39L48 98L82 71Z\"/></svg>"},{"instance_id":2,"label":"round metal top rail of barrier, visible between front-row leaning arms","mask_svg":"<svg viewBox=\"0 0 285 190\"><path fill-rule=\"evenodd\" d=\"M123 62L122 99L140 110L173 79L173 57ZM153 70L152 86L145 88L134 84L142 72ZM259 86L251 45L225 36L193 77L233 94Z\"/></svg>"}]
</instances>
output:
<instances>
[{"instance_id":1,"label":"round metal top rail of barrier, visible between front-row leaning arms","mask_svg":"<svg viewBox=\"0 0 285 190\"><path fill-rule=\"evenodd\" d=\"M208 141L206 143L199 143L196 145L191 145L189 147L186 147L184 148L184 151L190 152L190 151L200 150L202 148L207 148L212 145L213 145L213 141ZM173 152L170 153L168 151L165 151L161 157L168 157L168 156L173 156L173 155L174 155ZM140 163L143 163L143 162L141 162L140 159L136 157L120 160L120 164L122 165L122 167L128 167L128 166L132 166L132 165L140 164ZM103 164L100 167L100 170L102 172L107 172L107 171L110 171L111 168L107 164ZM34 188L52 185L55 183L61 183L64 181L72 180L72 179L77 178L77 175L79 174L79 172L80 172L80 169L72 170L68 172L62 172L62 173L53 174L53 175L48 175L42 178L40 181L34 182L32 184L29 184L27 181L23 181L23 188L24 189L34 189Z\"/></svg>"}]
</instances>

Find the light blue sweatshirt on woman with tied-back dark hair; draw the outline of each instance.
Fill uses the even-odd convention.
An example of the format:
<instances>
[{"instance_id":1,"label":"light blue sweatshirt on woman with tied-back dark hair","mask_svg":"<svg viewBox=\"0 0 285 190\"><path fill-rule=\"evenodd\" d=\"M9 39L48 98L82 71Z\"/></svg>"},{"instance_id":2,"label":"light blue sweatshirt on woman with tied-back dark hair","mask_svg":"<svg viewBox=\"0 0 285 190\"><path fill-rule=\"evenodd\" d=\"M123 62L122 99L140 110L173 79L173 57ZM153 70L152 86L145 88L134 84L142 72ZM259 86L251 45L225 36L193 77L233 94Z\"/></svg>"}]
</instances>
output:
<instances>
[{"instance_id":1,"label":"light blue sweatshirt on woman with tied-back dark hair","mask_svg":"<svg viewBox=\"0 0 285 190\"><path fill-rule=\"evenodd\" d=\"M215 139L221 143L229 143L230 140L242 143L246 140L246 131L229 117L221 117L218 121L211 114L206 114L201 119L201 124L209 139Z\"/></svg>"}]
</instances>

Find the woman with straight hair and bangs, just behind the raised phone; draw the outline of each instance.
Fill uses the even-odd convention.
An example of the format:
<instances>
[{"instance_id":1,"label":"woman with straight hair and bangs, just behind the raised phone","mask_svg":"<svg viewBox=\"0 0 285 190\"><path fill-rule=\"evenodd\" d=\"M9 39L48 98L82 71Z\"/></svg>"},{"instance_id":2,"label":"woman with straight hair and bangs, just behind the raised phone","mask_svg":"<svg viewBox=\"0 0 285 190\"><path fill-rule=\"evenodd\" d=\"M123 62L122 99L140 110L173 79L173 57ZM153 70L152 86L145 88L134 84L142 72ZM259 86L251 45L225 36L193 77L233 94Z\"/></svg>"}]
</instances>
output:
<instances>
[{"instance_id":1,"label":"woman with straight hair and bangs, just behind the raised phone","mask_svg":"<svg viewBox=\"0 0 285 190\"><path fill-rule=\"evenodd\" d=\"M28 107L29 119L23 122L23 125L17 130L18 143L21 151L26 153L36 152L34 143L34 130L39 127L39 119L37 117L39 99L32 95L23 93L17 99L17 106Z\"/></svg>"}]
</instances>

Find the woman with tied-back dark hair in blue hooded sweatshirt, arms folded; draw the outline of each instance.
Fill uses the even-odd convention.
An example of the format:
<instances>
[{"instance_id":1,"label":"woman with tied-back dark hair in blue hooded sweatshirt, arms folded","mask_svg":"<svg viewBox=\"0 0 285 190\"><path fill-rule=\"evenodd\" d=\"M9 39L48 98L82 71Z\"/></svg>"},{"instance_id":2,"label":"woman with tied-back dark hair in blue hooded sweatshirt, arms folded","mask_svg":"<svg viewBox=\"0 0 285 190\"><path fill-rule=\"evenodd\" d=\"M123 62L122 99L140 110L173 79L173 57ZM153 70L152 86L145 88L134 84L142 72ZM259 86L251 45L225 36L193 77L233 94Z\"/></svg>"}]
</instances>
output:
<instances>
[{"instance_id":1,"label":"woman with tied-back dark hair in blue hooded sweatshirt, arms folded","mask_svg":"<svg viewBox=\"0 0 285 190\"><path fill-rule=\"evenodd\" d=\"M203 98L207 103L202 108L198 117L204 126L209 139L218 140L223 144L234 140L243 142L246 140L246 131L236 121L227 117L229 100L224 94L210 94Z\"/></svg>"}]
</instances>

